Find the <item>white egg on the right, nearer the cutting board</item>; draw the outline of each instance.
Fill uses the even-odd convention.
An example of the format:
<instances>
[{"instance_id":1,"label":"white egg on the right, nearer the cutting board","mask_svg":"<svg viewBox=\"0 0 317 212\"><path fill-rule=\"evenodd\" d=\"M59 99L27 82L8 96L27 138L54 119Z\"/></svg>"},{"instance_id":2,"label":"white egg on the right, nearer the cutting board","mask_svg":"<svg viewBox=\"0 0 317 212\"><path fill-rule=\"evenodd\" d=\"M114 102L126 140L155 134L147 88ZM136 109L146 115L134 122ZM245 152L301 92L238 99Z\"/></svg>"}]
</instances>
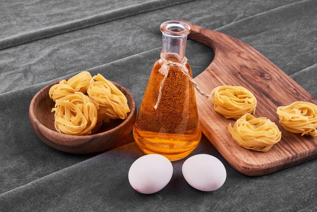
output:
<instances>
[{"instance_id":1,"label":"white egg on the right, nearer the cutting board","mask_svg":"<svg viewBox=\"0 0 317 212\"><path fill-rule=\"evenodd\" d=\"M226 180L226 169L216 157L200 154L188 158L182 167L187 183L197 190L214 191Z\"/></svg>"}]
</instances>

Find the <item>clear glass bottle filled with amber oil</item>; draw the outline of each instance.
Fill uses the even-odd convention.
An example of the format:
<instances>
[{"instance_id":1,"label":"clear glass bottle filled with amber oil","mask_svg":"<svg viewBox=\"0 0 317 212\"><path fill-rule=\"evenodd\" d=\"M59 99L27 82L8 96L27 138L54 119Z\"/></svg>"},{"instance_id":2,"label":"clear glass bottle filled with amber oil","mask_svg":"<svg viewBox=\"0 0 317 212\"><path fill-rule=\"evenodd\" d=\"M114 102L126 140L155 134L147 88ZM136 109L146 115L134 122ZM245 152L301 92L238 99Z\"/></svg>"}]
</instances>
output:
<instances>
[{"instance_id":1,"label":"clear glass bottle filled with amber oil","mask_svg":"<svg viewBox=\"0 0 317 212\"><path fill-rule=\"evenodd\" d=\"M159 59L153 65L133 136L145 154L160 154L174 161L186 157L197 147L201 128L193 85L179 66L166 62L186 62L185 48L190 27L180 21L167 21L160 28L163 33L161 57L165 62ZM192 77L188 63L184 69ZM154 109L167 73L161 99Z\"/></svg>"}]
</instances>

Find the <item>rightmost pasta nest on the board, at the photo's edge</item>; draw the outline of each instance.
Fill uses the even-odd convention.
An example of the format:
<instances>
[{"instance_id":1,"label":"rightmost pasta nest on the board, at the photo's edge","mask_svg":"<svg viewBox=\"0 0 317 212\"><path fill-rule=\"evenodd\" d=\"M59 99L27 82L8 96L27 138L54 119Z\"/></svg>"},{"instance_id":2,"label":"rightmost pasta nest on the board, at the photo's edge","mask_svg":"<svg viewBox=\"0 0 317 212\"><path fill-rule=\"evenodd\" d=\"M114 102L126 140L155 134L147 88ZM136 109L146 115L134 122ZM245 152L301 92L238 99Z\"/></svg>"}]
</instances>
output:
<instances>
[{"instance_id":1,"label":"rightmost pasta nest on the board, at the photo's edge","mask_svg":"<svg viewBox=\"0 0 317 212\"><path fill-rule=\"evenodd\" d=\"M295 101L290 105L279 107L276 113L284 129L301 135L317 136L317 105Z\"/></svg>"}]
</instances>

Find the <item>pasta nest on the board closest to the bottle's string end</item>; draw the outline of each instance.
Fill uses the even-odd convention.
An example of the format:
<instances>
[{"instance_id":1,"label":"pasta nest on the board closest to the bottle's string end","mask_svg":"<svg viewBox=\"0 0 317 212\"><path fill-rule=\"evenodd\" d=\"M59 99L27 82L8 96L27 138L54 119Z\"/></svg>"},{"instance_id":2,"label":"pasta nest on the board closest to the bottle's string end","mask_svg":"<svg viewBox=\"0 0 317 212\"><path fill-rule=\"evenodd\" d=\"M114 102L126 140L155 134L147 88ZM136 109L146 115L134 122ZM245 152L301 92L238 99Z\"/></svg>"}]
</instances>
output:
<instances>
[{"instance_id":1,"label":"pasta nest on the board closest to the bottle's string end","mask_svg":"<svg viewBox=\"0 0 317 212\"><path fill-rule=\"evenodd\" d=\"M242 86L223 85L212 90L210 100L214 109L225 118L239 119L247 113L255 114L257 100Z\"/></svg>"}]
</instances>

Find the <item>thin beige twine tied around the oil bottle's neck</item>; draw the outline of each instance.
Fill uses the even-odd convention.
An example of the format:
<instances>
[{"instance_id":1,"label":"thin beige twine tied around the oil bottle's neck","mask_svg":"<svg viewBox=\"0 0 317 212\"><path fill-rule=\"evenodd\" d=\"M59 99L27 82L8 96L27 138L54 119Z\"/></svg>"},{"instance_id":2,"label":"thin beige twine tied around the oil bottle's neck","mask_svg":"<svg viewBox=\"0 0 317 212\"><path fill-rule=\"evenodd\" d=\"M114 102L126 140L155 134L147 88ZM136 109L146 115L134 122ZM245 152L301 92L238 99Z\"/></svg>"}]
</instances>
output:
<instances>
[{"instance_id":1,"label":"thin beige twine tied around the oil bottle's neck","mask_svg":"<svg viewBox=\"0 0 317 212\"><path fill-rule=\"evenodd\" d=\"M208 98L210 98L210 94L205 93L204 91L202 91L202 89L200 89L197 84L194 82L194 80L190 77L189 73L188 73L188 69L186 68L186 63L187 63L187 58L184 57L182 62L174 62L171 60L167 60L165 59L165 57L163 56L163 54L161 53L161 60L163 61L164 64L167 64L167 71L165 73L165 76L161 82L160 85L160 90L159 90L159 96L157 97L157 101L156 104L154 105L154 109L156 110L157 107L159 107L159 103L161 101L161 97L162 97L162 88L164 85L165 80L167 79L168 75L169 75L169 67L170 66L174 66L174 67L180 67L181 72L188 78L188 80L191 82L191 84L196 88L196 90L202 94L203 96L206 96Z\"/></svg>"}]
</instances>

